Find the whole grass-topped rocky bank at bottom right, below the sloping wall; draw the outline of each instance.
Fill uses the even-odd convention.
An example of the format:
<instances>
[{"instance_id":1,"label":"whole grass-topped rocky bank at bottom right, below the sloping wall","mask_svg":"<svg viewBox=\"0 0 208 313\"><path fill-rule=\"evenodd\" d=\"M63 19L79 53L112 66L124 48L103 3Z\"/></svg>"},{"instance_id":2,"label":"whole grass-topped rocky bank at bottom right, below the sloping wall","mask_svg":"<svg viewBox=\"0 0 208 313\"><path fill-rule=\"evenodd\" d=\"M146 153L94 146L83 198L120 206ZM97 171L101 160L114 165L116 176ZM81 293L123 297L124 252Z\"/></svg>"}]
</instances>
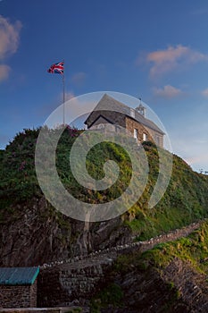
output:
<instances>
[{"instance_id":1,"label":"whole grass-topped rocky bank at bottom right, below the sloping wall","mask_svg":"<svg viewBox=\"0 0 208 313\"><path fill-rule=\"evenodd\" d=\"M207 312L207 247L204 221L187 238L120 256L92 297L91 311Z\"/></svg>"}]
</instances>

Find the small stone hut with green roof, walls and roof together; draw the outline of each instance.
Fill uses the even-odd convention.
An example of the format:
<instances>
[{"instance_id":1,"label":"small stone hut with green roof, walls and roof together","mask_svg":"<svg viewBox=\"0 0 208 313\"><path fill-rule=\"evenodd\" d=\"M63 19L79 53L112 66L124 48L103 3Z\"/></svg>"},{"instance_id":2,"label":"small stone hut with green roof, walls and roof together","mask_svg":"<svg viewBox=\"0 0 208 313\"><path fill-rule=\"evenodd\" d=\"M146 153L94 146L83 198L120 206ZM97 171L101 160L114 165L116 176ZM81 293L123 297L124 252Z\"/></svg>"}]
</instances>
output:
<instances>
[{"instance_id":1,"label":"small stone hut with green roof, walls and roof together","mask_svg":"<svg viewBox=\"0 0 208 313\"><path fill-rule=\"evenodd\" d=\"M0 267L0 309L36 308L39 267Z\"/></svg>"}]
</instances>

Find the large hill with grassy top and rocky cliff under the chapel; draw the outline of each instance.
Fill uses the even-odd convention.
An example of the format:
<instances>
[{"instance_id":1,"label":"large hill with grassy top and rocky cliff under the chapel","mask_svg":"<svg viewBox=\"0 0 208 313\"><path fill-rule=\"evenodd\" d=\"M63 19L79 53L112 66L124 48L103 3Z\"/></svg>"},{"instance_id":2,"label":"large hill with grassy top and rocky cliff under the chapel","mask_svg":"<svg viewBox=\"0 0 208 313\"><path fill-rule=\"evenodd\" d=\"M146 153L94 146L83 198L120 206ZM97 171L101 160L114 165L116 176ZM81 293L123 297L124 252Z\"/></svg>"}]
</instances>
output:
<instances>
[{"instance_id":1,"label":"large hill with grassy top and rocky cliff under the chapel","mask_svg":"<svg viewBox=\"0 0 208 313\"><path fill-rule=\"evenodd\" d=\"M1 266L41 265L123 244L131 241L132 236L141 241L208 215L207 176L193 172L175 155L168 189L154 208L148 208L159 163L157 148L145 142L150 168L148 182L142 197L129 212L111 221L89 224L63 216L47 202L38 186L34 156L39 131L21 131L0 153ZM108 159L119 164L121 173L109 190L86 190L69 170L71 146L78 136L78 130L68 127L59 140L56 165L62 183L82 201L104 203L115 199L129 183L131 165L128 154L110 142L92 148L87 155L87 170L91 175L101 179L104 162Z\"/></svg>"}]
</instances>

